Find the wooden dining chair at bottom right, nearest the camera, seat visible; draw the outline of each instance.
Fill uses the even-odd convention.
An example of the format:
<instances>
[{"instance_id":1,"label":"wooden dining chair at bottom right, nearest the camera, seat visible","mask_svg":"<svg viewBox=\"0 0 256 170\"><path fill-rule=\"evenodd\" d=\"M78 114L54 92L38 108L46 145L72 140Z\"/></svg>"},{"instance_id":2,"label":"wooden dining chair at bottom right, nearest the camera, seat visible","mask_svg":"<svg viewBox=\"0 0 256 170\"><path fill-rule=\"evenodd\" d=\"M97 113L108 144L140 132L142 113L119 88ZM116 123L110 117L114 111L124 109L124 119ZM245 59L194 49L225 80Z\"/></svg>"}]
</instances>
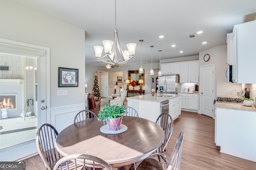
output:
<instances>
[{"instance_id":1,"label":"wooden dining chair at bottom right, nearest the camera, seat visible","mask_svg":"<svg viewBox=\"0 0 256 170\"><path fill-rule=\"evenodd\" d=\"M185 133L181 131L167 164L154 158L146 158L139 164L137 170L179 170L184 135Z\"/></svg>"}]
</instances>

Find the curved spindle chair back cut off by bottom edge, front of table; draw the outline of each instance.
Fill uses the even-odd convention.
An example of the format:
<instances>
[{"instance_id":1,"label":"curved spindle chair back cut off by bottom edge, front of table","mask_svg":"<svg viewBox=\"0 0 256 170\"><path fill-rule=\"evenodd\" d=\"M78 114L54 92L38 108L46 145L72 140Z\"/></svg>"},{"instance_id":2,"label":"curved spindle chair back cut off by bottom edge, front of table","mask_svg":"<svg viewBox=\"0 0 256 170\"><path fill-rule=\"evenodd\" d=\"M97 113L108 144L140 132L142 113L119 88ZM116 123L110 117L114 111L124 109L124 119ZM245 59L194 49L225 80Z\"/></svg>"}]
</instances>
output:
<instances>
[{"instance_id":1,"label":"curved spindle chair back cut off by bottom edge, front of table","mask_svg":"<svg viewBox=\"0 0 256 170\"><path fill-rule=\"evenodd\" d=\"M113 170L112 166L105 160L89 154L71 154L58 160L53 170L77 170L79 169L92 169L96 167L102 170Z\"/></svg>"}]
</instances>

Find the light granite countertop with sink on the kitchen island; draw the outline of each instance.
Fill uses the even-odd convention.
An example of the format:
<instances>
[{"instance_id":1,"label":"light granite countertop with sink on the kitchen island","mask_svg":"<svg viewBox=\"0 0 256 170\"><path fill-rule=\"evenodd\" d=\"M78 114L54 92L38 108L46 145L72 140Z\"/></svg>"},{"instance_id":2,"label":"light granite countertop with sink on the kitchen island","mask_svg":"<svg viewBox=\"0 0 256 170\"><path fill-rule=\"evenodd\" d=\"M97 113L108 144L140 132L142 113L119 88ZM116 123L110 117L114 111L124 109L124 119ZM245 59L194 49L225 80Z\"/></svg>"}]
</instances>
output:
<instances>
[{"instance_id":1,"label":"light granite countertop with sink on the kitchen island","mask_svg":"<svg viewBox=\"0 0 256 170\"><path fill-rule=\"evenodd\" d=\"M144 101L149 101L149 102L164 102L166 100L176 98L178 94L160 94L160 96L156 96L156 93L154 96L152 94L145 94L145 95L139 95L139 96L132 96L132 97L127 97L127 100L144 100Z\"/></svg>"}]
</instances>

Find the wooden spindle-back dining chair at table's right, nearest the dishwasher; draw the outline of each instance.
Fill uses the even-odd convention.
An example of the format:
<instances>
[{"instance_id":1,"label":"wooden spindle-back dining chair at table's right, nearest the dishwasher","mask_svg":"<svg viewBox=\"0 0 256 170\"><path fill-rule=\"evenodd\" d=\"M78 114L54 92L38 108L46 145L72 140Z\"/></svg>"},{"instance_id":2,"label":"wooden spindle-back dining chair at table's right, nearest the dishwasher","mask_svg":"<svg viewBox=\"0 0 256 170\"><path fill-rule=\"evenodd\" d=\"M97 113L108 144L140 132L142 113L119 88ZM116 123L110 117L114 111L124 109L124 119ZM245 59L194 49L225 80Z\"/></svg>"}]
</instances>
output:
<instances>
[{"instance_id":1,"label":"wooden spindle-back dining chair at table's right, nearest the dishwasher","mask_svg":"<svg viewBox=\"0 0 256 170\"><path fill-rule=\"evenodd\" d=\"M158 116L158 118L156 119L156 124L158 124L164 130L164 134L165 134L164 142L158 148L158 150L156 150L156 152L151 154L149 157L158 156L159 162L161 161L160 158L162 158L164 160L164 162L166 162L166 164L167 164L167 158L166 158L167 145L168 145L168 142L172 135L172 131L173 131L173 127L174 127L171 115L169 113L161 113Z\"/></svg>"}]
</instances>

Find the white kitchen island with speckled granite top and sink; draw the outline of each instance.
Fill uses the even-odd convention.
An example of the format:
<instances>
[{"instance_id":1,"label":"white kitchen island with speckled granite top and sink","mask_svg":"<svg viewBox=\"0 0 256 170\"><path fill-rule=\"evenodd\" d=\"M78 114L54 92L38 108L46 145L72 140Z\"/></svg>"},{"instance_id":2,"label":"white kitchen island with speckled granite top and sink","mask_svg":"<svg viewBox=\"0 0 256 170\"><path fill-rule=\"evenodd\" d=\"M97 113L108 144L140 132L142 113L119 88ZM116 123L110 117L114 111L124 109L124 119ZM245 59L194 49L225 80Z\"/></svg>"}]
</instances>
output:
<instances>
[{"instance_id":1,"label":"white kitchen island with speckled granite top and sink","mask_svg":"<svg viewBox=\"0 0 256 170\"><path fill-rule=\"evenodd\" d=\"M145 94L128 97L127 106L133 107L138 112L139 117L155 122L161 114L161 103L169 101L169 114L172 119L176 119L180 111L180 95L178 94Z\"/></svg>"}]
</instances>

